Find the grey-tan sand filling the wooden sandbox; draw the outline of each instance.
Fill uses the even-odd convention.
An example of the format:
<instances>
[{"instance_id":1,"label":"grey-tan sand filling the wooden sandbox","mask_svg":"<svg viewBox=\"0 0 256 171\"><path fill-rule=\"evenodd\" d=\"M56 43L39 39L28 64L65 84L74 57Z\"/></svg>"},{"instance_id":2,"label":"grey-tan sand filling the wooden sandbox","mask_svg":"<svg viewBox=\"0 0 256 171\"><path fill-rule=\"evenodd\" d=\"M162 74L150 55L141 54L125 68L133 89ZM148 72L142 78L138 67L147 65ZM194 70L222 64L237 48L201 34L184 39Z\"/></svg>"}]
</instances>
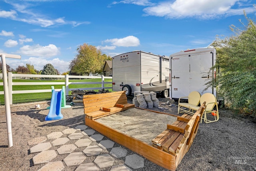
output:
<instances>
[{"instance_id":1,"label":"grey-tan sand filling the wooden sandbox","mask_svg":"<svg viewBox=\"0 0 256 171\"><path fill-rule=\"evenodd\" d=\"M137 108L127 109L96 119L96 121L108 127L150 145L152 144L152 139L166 129L167 124L172 124L176 120L177 117L175 116Z\"/></svg>"}]
</instances>

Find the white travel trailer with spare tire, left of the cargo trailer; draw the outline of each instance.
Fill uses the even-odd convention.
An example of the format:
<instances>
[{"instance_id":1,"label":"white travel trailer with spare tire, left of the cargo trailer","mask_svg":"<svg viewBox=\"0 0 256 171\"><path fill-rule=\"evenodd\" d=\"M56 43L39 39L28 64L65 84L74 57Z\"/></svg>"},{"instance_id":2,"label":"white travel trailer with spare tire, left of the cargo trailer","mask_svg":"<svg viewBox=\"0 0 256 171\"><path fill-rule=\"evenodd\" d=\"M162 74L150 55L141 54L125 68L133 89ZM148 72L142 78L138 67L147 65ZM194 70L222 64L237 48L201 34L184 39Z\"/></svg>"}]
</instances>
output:
<instances>
[{"instance_id":1,"label":"white travel trailer with spare tire, left of the cargo trailer","mask_svg":"<svg viewBox=\"0 0 256 171\"><path fill-rule=\"evenodd\" d=\"M169 58L148 52L134 51L112 58L112 90L154 91L168 97Z\"/></svg>"}]
</instances>

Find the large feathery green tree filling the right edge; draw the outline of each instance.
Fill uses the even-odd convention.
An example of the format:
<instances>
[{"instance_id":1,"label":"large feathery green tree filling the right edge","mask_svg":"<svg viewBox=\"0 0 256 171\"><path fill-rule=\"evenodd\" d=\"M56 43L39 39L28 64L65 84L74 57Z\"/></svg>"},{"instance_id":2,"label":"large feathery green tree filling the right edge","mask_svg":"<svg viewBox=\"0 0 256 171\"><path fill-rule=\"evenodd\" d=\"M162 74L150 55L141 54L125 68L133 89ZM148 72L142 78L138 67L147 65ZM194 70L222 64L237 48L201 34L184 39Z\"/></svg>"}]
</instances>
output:
<instances>
[{"instance_id":1,"label":"large feathery green tree filling the right edge","mask_svg":"<svg viewBox=\"0 0 256 171\"><path fill-rule=\"evenodd\" d=\"M233 36L216 38L212 46L216 48L218 59L216 77L225 100L231 108L256 113L256 24L246 16L247 24L241 30L230 26ZM210 83L208 83L210 85Z\"/></svg>"}]
</instances>

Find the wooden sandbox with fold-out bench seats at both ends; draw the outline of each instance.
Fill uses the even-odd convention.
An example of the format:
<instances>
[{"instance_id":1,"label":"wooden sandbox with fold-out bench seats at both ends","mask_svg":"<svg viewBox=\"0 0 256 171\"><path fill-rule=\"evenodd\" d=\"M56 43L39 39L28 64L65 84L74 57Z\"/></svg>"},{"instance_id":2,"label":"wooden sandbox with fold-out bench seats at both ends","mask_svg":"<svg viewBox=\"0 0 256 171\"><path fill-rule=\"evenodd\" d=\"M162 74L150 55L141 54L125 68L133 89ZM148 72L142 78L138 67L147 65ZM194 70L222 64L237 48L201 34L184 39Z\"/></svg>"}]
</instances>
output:
<instances>
[{"instance_id":1,"label":"wooden sandbox with fold-out bench seats at both ends","mask_svg":"<svg viewBox=\"0 0 256 171\"><path fill-rule=\"evenodd\" d=\"M184 115L180 117L173 115L171 121L167 121L170 123L166 124L164 123L167 120L165 117L170 114L149 111L138 107L133 109L134 105L127 103L127 97L124 91L84 95L83 102L85 124L87 126L92 127L116 143L142 155L153 163L173 171L176 170L180 161L192 145L198 130L202 111L204 111L203 105L193 116ZM119 113L121 111L126 111L127 113ZM114 115L114 113L119 114ZM142 120L136 119L136 113L137 115L138 113L144 113L142 114ZM160 113L164 115L159 116ZM125 115L128 119L124 119L118 123L117 116L124 117ZM160 119L160 122L156 121L156 118L153 119L156 115L158 115L156 118ZM148 121L147 118L149 119ZM106 123L103 124L104 120ZM128 120L133 121L128 124ZM151 123L149 124L149 122ZM111 123L111 125L107 123ZM148 135L147 129L149 130L155 123L159 123L163 127L156 125L151 130L150 134L152 135ZM130 125L130 127L125 127L126 125ZM137 133L140 133L140 135L136 138ZM144 139L147 136L148 139ZM152 145L150 145L150 139L152 140Z\"/></svg>"}]
</instances>

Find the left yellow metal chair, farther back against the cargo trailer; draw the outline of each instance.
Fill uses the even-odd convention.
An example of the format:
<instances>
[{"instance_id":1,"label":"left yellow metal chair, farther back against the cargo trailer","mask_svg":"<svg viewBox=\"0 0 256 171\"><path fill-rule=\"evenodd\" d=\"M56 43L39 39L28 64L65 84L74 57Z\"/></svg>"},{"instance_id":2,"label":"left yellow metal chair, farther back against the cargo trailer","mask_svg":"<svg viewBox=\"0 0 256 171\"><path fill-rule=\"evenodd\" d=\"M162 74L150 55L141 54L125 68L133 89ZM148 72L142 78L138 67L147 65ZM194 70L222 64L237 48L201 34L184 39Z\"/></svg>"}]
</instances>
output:
<instances>
[{"instance_id":1,"label":"left yellow metal chair, farther back against the cargo trailer","mask_svg":"<svg viewBox=\"0 0 256 171\"><path fill-rule=\"evenodd\" d=\"M178 101L178 114L179 114L180 110L182 110L182 112L194 114L193 111L192 112L190 111L191 110L190 106L197 107L200 103L200 97L201 97L201 94L198 91L190 92L187 97L180 97L179 101ZM183 98L188 98L188 103L180 103L180 99L183 99ZM182 109L182 107L185 107L189 110ZM199 109L199 107L198 107L198 109Z\"/></svg>"}]
</instances>

